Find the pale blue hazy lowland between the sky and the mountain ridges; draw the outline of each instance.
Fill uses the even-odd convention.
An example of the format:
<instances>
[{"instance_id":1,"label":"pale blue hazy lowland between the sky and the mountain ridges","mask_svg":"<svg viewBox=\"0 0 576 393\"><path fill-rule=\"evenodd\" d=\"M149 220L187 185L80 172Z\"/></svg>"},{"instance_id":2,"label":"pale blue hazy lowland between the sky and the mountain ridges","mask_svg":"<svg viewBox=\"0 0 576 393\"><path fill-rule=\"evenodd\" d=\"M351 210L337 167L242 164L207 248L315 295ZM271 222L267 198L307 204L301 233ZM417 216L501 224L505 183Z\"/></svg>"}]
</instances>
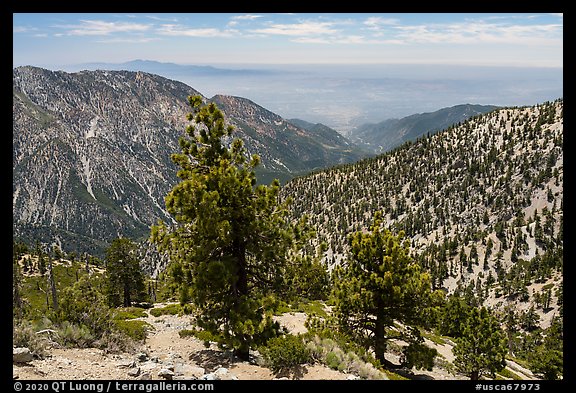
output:
<instances>
[{"instance_id":1,"label":"pale blue hazy lowland between the sky and the mountain ridges","mask_svg":"<svg viewBox=\"0 0 576 393\"><path fill-rule=\"evenodd\" d=\"M562 97L562 70L432 64L215 64L149 60L62 65L65 71L144 71L182 81L206 97L248 98L280 116L348 136L366 123L456 104L522 106ZM521 86L521 88L519 88ZM497 97L494 91L498 91Z\"/></svg>"}]
</instances>

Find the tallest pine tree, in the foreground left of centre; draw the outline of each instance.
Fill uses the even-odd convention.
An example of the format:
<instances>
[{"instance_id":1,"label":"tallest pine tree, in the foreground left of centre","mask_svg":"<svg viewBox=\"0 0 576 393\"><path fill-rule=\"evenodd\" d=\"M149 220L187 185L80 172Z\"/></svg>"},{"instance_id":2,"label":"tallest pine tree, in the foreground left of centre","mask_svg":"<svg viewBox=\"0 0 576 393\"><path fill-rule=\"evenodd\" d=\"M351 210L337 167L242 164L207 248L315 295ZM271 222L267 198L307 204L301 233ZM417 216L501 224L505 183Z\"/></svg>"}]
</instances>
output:
<instances>
[{"instance_id":1,"label":"tallest pine tree, in the foreground left of centre","mask_svg":"<svg viewBox=\"0 0 576 393\"><path fill-rule=\"evenodd\" d=\"M247 360L251 345L276 335L262 299L282 283L290 248L302 235L287 220L279 182L256 186L260 159L248 158L240 139L226 147L232 126L214 103L188 99L194 121L172 155L180 182L166 196L177 225L152 228L151 238L189 274L198 325ZM298 227L299 228L299 227Z\"/></svg>"}]
</instances>

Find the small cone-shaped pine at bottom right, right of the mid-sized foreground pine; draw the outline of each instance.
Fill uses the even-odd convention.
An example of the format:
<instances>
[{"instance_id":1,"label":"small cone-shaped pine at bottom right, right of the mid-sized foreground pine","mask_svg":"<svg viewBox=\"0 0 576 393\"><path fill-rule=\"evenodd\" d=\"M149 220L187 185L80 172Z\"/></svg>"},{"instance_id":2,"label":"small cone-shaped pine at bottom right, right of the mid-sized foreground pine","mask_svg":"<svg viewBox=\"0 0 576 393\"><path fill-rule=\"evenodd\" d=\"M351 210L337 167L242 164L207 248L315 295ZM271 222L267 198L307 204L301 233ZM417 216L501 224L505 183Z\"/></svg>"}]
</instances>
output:
<instances>
[{"instance_id":1,"label":"small cone-shaped pine at bottom right, right of the mid-sized foreground pine","mask_svg":"<svg viewBox=\"0 0 576 393\"><path fill-rule=\"evenodd\" d=\"M456 368L477 380L483 374L501 371L508 349L504 332L496 318L485 307L474 307L468 313L462 337L453 349Z\"/></svg>"}]
</instances>

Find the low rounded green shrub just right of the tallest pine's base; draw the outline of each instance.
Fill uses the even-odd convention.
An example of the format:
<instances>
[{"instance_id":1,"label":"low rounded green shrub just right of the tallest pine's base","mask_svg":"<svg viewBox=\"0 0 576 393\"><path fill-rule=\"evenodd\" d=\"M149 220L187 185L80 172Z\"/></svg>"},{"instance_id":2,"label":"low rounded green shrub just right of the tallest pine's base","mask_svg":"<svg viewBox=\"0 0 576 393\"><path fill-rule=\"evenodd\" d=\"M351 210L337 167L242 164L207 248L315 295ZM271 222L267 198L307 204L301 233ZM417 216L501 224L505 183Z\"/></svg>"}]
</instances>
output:
<instances>
[{"instance_id":1,"label":"low rounded green shrub just right of the tallest pine's base","mask_svg":"<svg viewBox=\"0 0 576 393\"><path fill-rule=\"evenodd\" d=\"M292 334L272 338L259 350L266 365L276 373L312 360L302 337Z\"/></svg>"}]
</instances>

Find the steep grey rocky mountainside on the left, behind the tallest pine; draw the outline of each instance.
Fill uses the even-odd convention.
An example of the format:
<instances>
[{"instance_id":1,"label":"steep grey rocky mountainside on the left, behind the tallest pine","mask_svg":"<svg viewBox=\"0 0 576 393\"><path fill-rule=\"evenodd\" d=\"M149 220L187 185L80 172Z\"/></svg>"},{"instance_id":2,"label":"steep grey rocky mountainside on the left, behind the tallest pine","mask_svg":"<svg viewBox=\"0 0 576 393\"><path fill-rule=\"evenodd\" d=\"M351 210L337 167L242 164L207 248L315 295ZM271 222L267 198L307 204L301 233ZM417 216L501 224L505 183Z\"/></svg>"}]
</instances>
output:
<instances>
[{"instance_id":1,"label":"steep grey rocky mountainside on the left, behind the tallest pine","mask_svg":"<svg viewBox=\"0 0 576 393\"><path fill-rule=\"evenodd\" d=\"M130 71L13 70L13 235L64 251L102 254L119 236L141 238L170 221L164 196L176 184L170 154L187 125L190 86ZM255 103L217 96L261 180L287 179L359 158L325 146Z\"/></svg>"}]
</instances>

